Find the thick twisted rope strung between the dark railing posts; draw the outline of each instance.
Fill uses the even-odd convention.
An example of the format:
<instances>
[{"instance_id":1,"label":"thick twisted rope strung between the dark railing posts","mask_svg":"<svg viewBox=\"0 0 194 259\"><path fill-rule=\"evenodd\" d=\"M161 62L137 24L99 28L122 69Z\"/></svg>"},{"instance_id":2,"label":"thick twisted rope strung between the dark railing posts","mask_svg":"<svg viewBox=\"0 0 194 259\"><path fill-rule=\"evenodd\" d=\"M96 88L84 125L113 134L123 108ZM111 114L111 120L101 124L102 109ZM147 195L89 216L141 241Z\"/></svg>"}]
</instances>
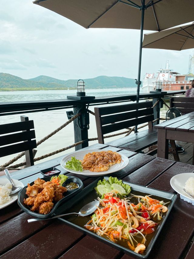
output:
<instances>
[{"instance_id":1,"label":"thick twisted rope strung between the dark railing posts","mask_svg":"<svg viewBox=\"0 0 194 259\"><path fill-rule=\"evenodd\" d=\"M155 102L155 104L153 105L153 108L156 106L156 104L159 103L159 99ZM166 106L168 106L167 104L165 104ZM92 114L92 115L95 115L95 113L93 111L90 111L89 109L87 109L87 111ZM49 139L50 137L52 137L53 135L55 135L57 132L59 132L60 130L62 130L63 128L65 128L69 123L71 123L72 121L74 121L76 118L78 118L82 113L79 112L77 114L75 114L71 119L69 119L67 122L65 122L64 124L62 124L59 128L57 128L55 131L52 131L49 135L45 136L44 138L42 138L41 140L39 140L37 142L37 146L40 145L41 143L43 143L44 141L46 141L47 139ZM163 118L161 118L163 119ZM155 121L158 121L159 118L153 120L153 122ZM144 124L142 126L139 126L137 129L141 129L143 127L146 127L148 126L148 124ZM127 131L123 131L123 132L119 132L119 133L115 133L115 134L112 134L112 135L107 135L107 136L104 136L104 138L111 138L111 137L115 137L115 136L119 136L119 135L123 135L123 134L126 134L125 136L129 136L129 134L131 134L132 131L135 130L135 127L132 127L132 128L127 128ZM85 139L85 140L82 140L82 141L79 141L79 142L76 142L72 145L69 145L65 148L61 148L59 150L56 150L56 151L53 151L51 153L48 153L48 154L45 154L45 155L42 155L42 156L39 156L37 158L34 158L34 162L36 161L39 161L39 160L42 160L44 158L47 158L49 156L52 156L52 155L55 155L55 154L58 154L60 152L63 152L65 150L68 150L70 148L73 148L77 145L80 145L80 144L83 144L85 142L88 142L88 141L94 141L94 140L98 140L98 138L88 138L88 139ZM20 170L18 167L21 167L23 165L26 165L26 162L22 162L22 163L19 163L19 164L16 164L16 165L12 165L11 167L8 167L9 165L11 165L12 163L14 163L15 161L17 161L19 158L21 158L23 155L25 155L25 152L22 152L20 153L19 155L17 155L15 158L11 159L10 161L6 162L4 165L1 165L0 166L0 171L4 170L4 169L9 169L9 170Z\"/></svg>"}]
</instances>

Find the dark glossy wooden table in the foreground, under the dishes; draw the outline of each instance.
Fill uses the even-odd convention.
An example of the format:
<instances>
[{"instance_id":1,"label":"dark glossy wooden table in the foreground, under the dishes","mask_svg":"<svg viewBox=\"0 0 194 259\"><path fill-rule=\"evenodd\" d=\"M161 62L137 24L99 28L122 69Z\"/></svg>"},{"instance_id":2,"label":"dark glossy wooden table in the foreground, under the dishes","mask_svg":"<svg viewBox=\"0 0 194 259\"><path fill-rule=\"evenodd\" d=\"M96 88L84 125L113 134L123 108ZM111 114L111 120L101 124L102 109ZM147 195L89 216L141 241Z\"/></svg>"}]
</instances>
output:
<instances>
[{"instance_id":1,"label":"dark glossy wooden table in the foreground, under the dishes","mask_svg":"<svg viewBox=\"0 0 194 259\"><path fill-rule=\"evenodd\" d=\"M194 172L193 165L106 145L95 144L85 149L111 149L127 155L129 164L117 173L118 178L171 193L175 193L170 186L172 176L182 172ZM62 157L14 172L12 178L27 185L28 182L42 177L39 173L41 169L51 166L57 166L64 174L73 175L61 168ZM96 179L87 176L79 178L82 179L84 187ZM60 220L28 223L30 218L32 217L24 213L17 202L0 210L0 258L134 258L67 226ZM180 199L178 195L149 259L193 258L194 245L190 244L193 230L194 206Z\"/></svg>"}]
</instances>

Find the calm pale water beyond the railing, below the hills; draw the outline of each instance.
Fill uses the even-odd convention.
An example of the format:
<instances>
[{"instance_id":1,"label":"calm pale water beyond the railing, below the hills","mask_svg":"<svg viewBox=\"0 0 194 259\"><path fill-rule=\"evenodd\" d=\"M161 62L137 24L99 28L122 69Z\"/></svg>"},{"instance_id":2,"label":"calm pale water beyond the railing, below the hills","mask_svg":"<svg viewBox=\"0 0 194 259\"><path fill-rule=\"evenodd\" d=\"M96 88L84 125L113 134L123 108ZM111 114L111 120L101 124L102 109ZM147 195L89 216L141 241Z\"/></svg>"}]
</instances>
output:
<instances>
[{"instance_id":1,"label":"calm pale water beyond the railing, below the hills","mask_svg":"<svg viewBox=\"0 0 194 259\"><path fill-rule=\"evenodd\" d=\"M49 100L49 99L63 99L67 95L75 95L76 90L40 90L40 91L15 91L15 92L0 92L0 102L11 102L11 101L34 101L34 100ZM97 90L86 90L87 95L99 96L111 96L111 95L120 95L120 94L135 94L135 88L128 89L97 89ZM102 105L101 105L102 106ZM90 107L90 110L94 110L94 107ZM71 108L69 110L72 110ZM0 124L12 123L20 121L20 115L26 115L29 117L29 120L34 120L36 141L39 141L56 128L60 127L67 121L67 110L55 110L55 111L42 111L42 112L32 112L24 114L15 114L1 116ZM74 134L73 134L73 123L70 123L68 126L63 128L61 131L56 133L54 136L43 142L37 148L37 153L35 157L53 152L60 148L72 145L74 143ZM95 117L90 114L90 129L89 129L89 138L95 138L97 136ZM123 135L124 136L124 135ZM109 138L107 140L111 141L115 138ZM97 143L98 141L91 141L89 145ZM42 159L41 161L35 162L40 163L60 155L73 152L75 148L71 148L59 154L53 155L50 158ZM0 158L0 165L9 161L15 155L10 155L7 157ZM24 158L20 158L18 162L23 162Z\"/></svg>"}]
</instances>

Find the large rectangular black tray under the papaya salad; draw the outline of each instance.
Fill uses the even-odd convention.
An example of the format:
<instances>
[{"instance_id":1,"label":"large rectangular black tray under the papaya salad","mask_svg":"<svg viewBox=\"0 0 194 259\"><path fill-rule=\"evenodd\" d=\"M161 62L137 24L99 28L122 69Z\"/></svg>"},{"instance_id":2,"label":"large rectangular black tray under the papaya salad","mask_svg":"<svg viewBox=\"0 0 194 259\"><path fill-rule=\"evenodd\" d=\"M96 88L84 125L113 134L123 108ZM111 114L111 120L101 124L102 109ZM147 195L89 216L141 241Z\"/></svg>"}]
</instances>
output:
<instances>
[{"instance_id":1,"label":"large rectangular black tray under the papaya salad","mask_svg":"<svg viewBox=\"0 0 194 259\"><path fill-rule=\"evenodd\" d=\"M105 176L104 177L105 179L108 179L109 177ZM89 186L87 186L86 188L84 188L82 190L81 193L79 193L78 195L75 195L71 200L69 200L67 203L65 203L65 208L64 207L59 207L56 211L55 211L55 214L56 215L60 215L60 214L64 214L64 211L65 213L68 213L68 212L78 212L79 209L82 208L82 206L84 206L85 204L91 202L92 200L94 200L94 198L97 198L97 195L95 194L95 197L93 194L91 194L91 192L93 193L94 192L94 187L97 185L97 182L99 180L102 180L103 177L100 177L99 179L95 180L94 182L92 182ZM132 191L131 193L133 193L133 191L135 192L138 192L138 194L141 195L141 193L145 193L146 194L152 194L154 196L154 198L157 198L159 200L162 200L162 199L168 199L170 201L169 203L169 206L168 206L168 211L164 214L163 216L163 219L161 220L161 222L159 223L153 237L152 237L152 240L151 242L149 243L148 247L146 247L146 251L143 255L141 254L137 254L135 252L133 252L132 250L129 250L128 248L126 247L123 247L119 244L116 244L116 243L113 243L112 241L110 240L107 240L105 239L104 237L100 237L98 236L97 234L87 230L84 228L84 226L79 226L78 224L78 216L65 216L64 218L59 218L60 220L62 220L63 222L65 222L66 224L76 228L76 229L79 229L81 230L82 232L96 238L96 239L99 239L101 240L103 243L108 243L109 245L111 245L112 247L114 248L117 248L119 250L122 250L124 253L127 253L127 254L130 254L130 255L133 255L135 257L140 257L140 258L147 258L149 256L149 253L156 241L156 238L158 237L163 225L165 224L165 221L173 207L173 204L175 203L176 201L176 194L174 193L168 193L168 192L164 192L164 191L159 191L159 190L156 190L156 189L152 189L152 188L148 188L148 187L145 187L145 186L141 186L141 185L138 185L138 184L133 184L131 182L126 182L126 181L123 181L123 183L127 183L129 184L131 187L132 187ZM90 195L89 195L90 193ZM143 196L144 196L143 195ZM73 207L72 207L73 206ZM75 218L77 217L77 219ZM76 222L77 220L77 223L73 223L71 221L75 221Z\"/></svg>"}]
</instances>

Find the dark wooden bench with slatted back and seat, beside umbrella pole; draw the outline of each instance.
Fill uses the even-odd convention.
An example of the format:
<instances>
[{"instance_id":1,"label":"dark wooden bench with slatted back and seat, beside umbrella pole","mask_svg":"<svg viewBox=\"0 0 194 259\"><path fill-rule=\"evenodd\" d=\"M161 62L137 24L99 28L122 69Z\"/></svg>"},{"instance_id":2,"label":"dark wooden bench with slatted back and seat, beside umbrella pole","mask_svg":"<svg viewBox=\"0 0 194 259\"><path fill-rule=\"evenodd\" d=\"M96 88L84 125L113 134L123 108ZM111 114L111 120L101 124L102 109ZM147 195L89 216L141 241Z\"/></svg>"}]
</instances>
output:
<instances>
[{"instance_id":1,"label":"dark wooden bench with slatted back and seat, beside umbrella pole","mask_svg":"<svg viewBox=\"0 0 194 259\"><path fill-rule=\"evenodd\" d=\"M123 130L135 125L148 123L149 129L119 138L106 143L133 152L150 147L157 143L157 129L153 128L154 120L152 101L124 104L109 107L95 107L95 120L98 141L104 144L104 134Z\"/></svg>"}]
</instances>

